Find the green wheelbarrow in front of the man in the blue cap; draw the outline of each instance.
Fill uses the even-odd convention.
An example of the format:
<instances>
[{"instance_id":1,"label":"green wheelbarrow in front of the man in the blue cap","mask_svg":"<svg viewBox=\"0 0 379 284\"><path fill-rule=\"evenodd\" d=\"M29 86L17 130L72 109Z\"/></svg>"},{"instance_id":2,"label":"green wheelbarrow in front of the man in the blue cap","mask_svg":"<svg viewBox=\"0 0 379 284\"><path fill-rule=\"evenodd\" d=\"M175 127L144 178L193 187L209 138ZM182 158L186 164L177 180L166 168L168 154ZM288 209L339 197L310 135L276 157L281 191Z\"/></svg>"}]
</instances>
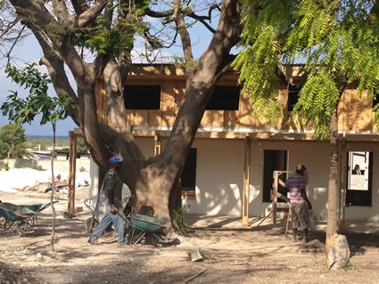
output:
<instances>
[{"instance_id":1,"label":"green wheelbarrow in front of the man in the blue cap","mask_svg":"<svg viewBox=\"0 0 379 284\"><path fill-rule=\"evenodd\" d=\"M173 241L164 232L164 229L168 227L166 220L141 214L129 214L126 216L119 211L117 211L117 214L132 228L128 238L130 246L135 246L142 239L145 239L145 241L150 240L155 247L162 247Z\"/></svg>"}]
</instances>

